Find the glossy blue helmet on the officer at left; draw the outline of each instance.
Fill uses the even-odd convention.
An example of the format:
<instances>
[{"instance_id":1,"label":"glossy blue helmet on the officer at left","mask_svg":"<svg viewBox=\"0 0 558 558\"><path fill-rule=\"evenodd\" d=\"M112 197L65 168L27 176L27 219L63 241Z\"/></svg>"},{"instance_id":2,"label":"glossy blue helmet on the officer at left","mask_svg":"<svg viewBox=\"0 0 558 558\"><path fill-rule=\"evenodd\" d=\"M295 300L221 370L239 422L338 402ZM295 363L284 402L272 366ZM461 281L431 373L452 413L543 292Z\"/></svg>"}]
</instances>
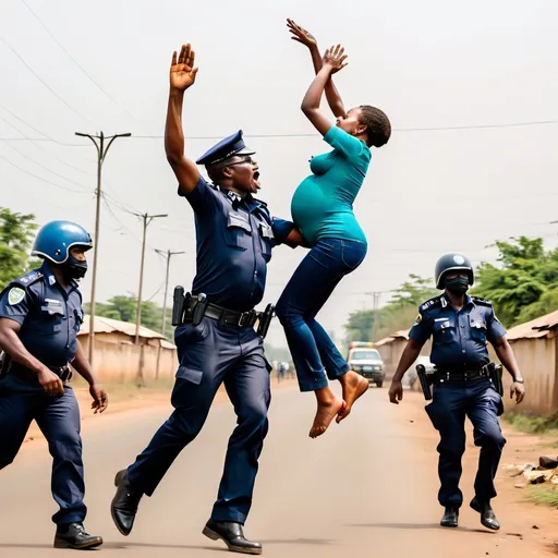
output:
<instances>
[{"instance_id":1,"label":"glossy blue helmet on the officer at left","mask_svg":"<svg viewBox=\"0 0 558 558\"><path fill-rule=\"evenodd\" d=\"M75 222L51 221L39 230L31 254L61 266L69 280L82 279L87 272L87 262L72 256L70 250L73 247L90 250L89 233Z\"/></svg>"}]
</instances>

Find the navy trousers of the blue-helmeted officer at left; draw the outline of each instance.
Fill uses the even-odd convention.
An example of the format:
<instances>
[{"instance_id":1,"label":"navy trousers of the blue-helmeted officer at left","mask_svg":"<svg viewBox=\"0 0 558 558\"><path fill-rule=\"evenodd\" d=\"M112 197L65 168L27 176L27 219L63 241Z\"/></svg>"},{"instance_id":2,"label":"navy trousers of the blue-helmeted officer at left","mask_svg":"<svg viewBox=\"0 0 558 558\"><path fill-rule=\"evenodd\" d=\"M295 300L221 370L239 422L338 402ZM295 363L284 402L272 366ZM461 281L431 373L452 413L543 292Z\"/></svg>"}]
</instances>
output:
<instances>
[{"instance_id":1,"label":"navy trousers of the blue-helmeted officer at left","mask_svg":"<svg viewBox=\"0 0 558 558\"><path fill-rule=\"evenodd\" d=\"M36 379L8 374L0 379L0 469L9 465L23 444L32 421L48 441L52 456L52 496L60 510L52 521L58 525L82 522L85 484L80 436L80 408L70 386L64 395L48 396ZM31 505L31 504L29 504Z\"/></svg>"}]
</instances>

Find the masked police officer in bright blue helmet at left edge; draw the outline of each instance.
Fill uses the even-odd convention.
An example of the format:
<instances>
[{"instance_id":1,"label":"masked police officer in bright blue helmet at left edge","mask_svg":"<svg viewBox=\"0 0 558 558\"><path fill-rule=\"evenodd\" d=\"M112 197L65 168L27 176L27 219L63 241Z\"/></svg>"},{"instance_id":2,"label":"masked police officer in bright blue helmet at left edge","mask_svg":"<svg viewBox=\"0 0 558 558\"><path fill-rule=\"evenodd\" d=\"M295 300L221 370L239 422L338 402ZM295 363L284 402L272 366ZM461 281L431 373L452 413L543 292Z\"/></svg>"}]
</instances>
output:
<instances>
[{"instance_id":1,"label":"masked police officer in bright blue helmet at left edge","mask_svg":"<svg viewBox=\"0 0 558 558\"><path fill-rule=\"evenodd\" d=\"M89 384L93 409L107 408L107 393L96 381L77 341L83 322L77 280L85 276L87 231L70 221L45 225L32 255L39 269L11 282L0 294L0 469L12 463L35 420L52 456L52 496L60 510L56 548L93 548L102 544L83 525L86 507L80 436L80 409L69 363ZM31 502L29 502L31 505Z\"/></svg>"}]
</instances>

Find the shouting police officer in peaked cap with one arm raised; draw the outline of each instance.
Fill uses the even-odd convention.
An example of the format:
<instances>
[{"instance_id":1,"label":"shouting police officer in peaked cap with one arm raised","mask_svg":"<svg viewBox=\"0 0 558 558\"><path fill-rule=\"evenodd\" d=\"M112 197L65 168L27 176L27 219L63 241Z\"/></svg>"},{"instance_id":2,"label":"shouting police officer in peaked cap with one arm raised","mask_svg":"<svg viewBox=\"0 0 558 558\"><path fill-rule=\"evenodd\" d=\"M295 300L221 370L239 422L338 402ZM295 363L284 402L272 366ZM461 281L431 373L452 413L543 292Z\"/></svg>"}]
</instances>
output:
<instances>
[{"instance_id":1,"label":"shouting police officer in peaked cap with one arm raised","mask_svg":"<svg viewBox=\"0 0 558 558\"><path fill-rule=\"evenodd\" d=\"M179 182L179 195L195 214L197 272L186 302L185 324L175 330L180 366L172 391L174 412L136 461L117 474L111 512L123 535L132 531L140 499L150 496L182 449L202 429L214 397L225 384L238 416L227 451L217 501L204 534L222 539L229 550L260 554L262 545L243 533L268 430L269 372L263 339L254 330L254 306L264 294L271 247L291 246L302 236L292 222L270 217L253 195L258 169L242 132L211 147L196 162L215 185L184 157L182 102L197 69L183 46L170 71L165 147ZM216 186L218 185L218 187ZM203 314L196 312L203 308Z\"/></svg>"}]
</instances>

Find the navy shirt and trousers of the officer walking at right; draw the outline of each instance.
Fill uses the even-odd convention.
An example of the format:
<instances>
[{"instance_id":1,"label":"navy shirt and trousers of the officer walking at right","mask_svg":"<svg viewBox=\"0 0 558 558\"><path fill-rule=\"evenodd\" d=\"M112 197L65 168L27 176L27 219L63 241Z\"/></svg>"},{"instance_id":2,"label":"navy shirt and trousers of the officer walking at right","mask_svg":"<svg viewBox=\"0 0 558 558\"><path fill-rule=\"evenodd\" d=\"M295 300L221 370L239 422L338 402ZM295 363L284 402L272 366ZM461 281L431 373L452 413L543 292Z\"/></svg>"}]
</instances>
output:
<instances>
[{"instance_id":1,"label":"navy shirt and trousers of the officer walking at right","mask_svg":"<svg viewBox=\"0 0 558 558\"><path fill-rule=\"evenodd\" d=\"M430 361L437 373L433 402L426 405L426 412L440 433L438 500L445 507L459 508L463 501L459 481L465 416L473 423L474 441L481 447L475 494L482 501L496 496L494 477L506 444L498 424L504 405L490 380L478 373L489 362L486 342L505 333L488 301L468 295L464 306L457 311L445 294L420 306L409 333L420 343L433 336Z\"/></svg>"}]
</instances>

